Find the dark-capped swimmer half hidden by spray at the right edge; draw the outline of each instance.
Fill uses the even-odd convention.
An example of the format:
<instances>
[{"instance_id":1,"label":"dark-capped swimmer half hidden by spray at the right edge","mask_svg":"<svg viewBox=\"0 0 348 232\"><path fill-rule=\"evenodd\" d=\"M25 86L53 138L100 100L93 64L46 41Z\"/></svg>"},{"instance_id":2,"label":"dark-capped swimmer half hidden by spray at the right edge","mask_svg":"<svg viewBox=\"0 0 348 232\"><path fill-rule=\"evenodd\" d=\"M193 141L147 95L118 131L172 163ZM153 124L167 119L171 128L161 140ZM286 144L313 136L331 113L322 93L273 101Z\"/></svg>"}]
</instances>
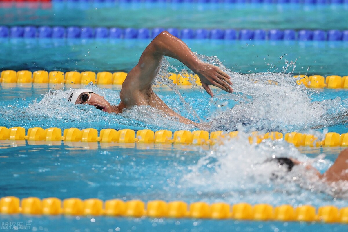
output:
<instances>
[{"instance_id":1,"label":"dark-capped swimmer half hidden by spray at the right edge","mask_svg":"<svg viewBox=\"0 0 348 232\"><path fill-rule=\"evenodd\" d=\"M302 165L306 168L306 171L313 172L318 179L323 180L327 183L333 183L338 181L348 181L348 148L341 151L335 160L334 164L331 165L329 169L324 174L318 172L316 168L309 164L303 164L299 160L293 158L285 158L285 157L275 157L271 159L267 159L266 162L276 162L279 168L286 168L287 172L291 172L292 168L296 165ZM278 177L275 176L274 177Z\"/></svg>"}]
</instances>

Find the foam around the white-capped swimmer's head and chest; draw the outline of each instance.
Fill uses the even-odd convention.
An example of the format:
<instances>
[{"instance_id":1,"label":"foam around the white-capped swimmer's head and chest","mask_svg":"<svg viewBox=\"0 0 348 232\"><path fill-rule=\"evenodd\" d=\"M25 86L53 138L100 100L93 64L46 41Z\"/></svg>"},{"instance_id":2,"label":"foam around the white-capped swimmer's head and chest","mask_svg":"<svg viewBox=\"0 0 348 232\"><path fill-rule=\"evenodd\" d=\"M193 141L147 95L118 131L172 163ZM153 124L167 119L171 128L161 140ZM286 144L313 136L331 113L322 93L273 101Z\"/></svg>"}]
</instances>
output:
<instances>
[{"instance_id":1,"label":"foam around the white-capped swimmer's head and chest","mask_svg":"<svg viewBox=\"0 0 348 232\"><path fill-rule=\"evenodd\" d=\"M94 85L89 85L86 88L104 96L111 105L118 105L120 102L119 91L101 89ZM72 90L49 91L40 101L35 99L25 109L25 113L34 116L34 118L45 117L53 121L90 122L95 123L96 127L103 128L120 128L120 126L150 129L157 127L171 130L193 130L196 128L193 125L180 123L177 118L169 117L150 106L134 106L131 109L124 109L120 114L108 114L90 105L73 105L66 100Z\"/></svg>"}]
</instances>

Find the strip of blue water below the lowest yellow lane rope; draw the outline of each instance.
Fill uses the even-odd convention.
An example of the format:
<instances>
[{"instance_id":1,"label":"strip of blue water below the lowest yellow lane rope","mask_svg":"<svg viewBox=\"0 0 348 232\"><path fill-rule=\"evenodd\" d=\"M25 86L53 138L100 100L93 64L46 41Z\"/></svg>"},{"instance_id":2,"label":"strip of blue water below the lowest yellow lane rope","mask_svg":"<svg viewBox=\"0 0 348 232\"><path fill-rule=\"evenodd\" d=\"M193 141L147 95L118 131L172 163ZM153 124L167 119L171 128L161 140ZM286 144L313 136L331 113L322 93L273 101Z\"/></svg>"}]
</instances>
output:
<instances>
[{"instance_id":1,"label":"strip of blue water below the lowest yellow lane rope","mask_svg":"<svg viewBox=\"0 0 348 232\"><path fill-rule=\"evenodd\" d=\"M31 216L12 216L4 217L4 222L24 223L24 226L33 231L61 231L62 224L71 231L345 231L346 225L339 224L308 224L295 222L250 222L250 221L230 221L230 220L194 220L194 219L134 219L134 218L113 218L113 217L31 217ZM94 221L94 222L91 222ZM27 224L26 224L27 223Z\"/></svg>"}]
</instances>

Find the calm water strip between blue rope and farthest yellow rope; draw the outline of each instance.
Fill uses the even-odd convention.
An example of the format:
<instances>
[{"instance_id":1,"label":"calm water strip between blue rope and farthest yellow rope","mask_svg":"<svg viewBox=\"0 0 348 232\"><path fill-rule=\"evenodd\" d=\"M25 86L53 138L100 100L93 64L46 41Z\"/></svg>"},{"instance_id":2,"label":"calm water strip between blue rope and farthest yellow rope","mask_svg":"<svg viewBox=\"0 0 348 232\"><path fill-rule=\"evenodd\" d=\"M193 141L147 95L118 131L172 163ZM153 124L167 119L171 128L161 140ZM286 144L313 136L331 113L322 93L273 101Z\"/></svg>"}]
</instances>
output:
<instances>
[{"instance_id":1,"label":"calm water strip between blue rope and farthest yellow rope","mask_svg":"<svg viewBox=\"0 0 348 232\"><path fill-rule=\"evenodd\" d=\"M0 71L129 72L151 40L5 38L0 41ZM193 52L217 56L224 66L238 73L283 72L285 63L295 61L296 67L286 72L348 75L347 41L184 41ZM184 68L174 59L171 63L179 70Z\"/></svg>"}]
</instances>

